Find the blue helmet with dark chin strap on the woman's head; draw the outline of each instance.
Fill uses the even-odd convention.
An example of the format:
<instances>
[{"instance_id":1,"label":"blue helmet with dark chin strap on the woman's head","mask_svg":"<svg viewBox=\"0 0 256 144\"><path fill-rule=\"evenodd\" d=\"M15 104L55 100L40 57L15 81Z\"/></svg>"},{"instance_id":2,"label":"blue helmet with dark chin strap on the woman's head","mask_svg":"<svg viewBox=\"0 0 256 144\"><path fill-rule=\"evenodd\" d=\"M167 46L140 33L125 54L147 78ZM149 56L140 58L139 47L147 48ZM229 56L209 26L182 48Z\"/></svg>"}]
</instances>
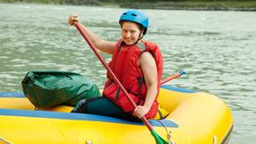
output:
<instances>
[{"instance_id":1,"label":"blue helmet with dark chin strap on the woman's head","mask_svg":"<svg viewBox=\"0 0 256 144\"><path fill-rule=\"evenodd\" d=\"M128 10L124 11L124 13L121 15L119 19L119 23L122 21L132 21L139 25L141 25L144 28L143 34L145 35L147 33L147 27L148 27L148 17L137 10Z\"/></svg>"}]
</instances>

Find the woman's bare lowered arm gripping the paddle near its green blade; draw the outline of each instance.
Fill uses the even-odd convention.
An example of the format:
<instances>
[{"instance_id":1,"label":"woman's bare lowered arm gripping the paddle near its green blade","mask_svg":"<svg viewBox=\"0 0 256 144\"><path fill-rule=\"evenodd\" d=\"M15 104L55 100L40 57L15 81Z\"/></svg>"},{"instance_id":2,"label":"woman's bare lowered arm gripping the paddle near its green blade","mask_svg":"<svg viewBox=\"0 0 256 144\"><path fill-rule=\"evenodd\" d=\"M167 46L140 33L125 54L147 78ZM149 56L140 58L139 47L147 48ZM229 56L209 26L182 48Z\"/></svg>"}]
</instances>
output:
<instances>
[{"instance_id":1,"label":"woman's bare lowered arm gripping the paddle near its green blade","mask_svg":"<svg viewBox=\"0 0 256 144\"><path fill-rule=\"evenodd\" d=\"M154 99L157 95L157 68L154 57L149 52L144 52L139 58L139 67L141 68L145 83L147 85L147 95L145 103L139 105L134 110L134 115L138 118L142 118L147 112L149 112Z\"/></svg>"}]
</instances>

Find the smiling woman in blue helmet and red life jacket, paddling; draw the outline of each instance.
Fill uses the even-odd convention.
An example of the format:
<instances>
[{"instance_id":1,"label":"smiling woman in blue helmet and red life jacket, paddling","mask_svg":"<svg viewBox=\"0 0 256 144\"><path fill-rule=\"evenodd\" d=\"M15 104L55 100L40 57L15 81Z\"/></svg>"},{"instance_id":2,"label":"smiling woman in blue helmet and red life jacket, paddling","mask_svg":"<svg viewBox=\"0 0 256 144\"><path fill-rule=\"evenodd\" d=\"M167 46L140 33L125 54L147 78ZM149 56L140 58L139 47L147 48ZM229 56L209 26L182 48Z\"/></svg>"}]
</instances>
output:
<instances>
[{"instance_id":1,"label":"smiling woman in blue helmet and red life jacket, paddling","mask_svg":"<svg viewBox=\"0 0 256 144\"><path fill-rule=\"evenodd\" d=\"M68 23L79 23L77 15L72 14ZM162 54L151 42L142 40L147 33L148 18L136 10L124 11L119 19L121 39L110 42L100 39L82 26L94 46L107 54L112 54L109 67L124 85L138 107L135 109L107 74L103 96L83 100L72 112L102 114L122 119L139 120L143 116L155 119L158 111L156 101L162 77Z\"/></svg>"}]
</instances>

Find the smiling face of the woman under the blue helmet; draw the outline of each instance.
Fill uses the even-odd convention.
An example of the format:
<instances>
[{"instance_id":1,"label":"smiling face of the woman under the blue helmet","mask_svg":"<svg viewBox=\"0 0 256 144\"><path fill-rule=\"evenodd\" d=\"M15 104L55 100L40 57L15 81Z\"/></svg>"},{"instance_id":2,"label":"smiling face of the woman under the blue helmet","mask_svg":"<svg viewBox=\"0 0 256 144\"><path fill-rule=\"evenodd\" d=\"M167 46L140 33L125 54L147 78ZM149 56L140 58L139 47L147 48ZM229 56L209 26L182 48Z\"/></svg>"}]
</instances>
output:
<instances>
[{"instance_id":1,"label":"smiling face of the woman under the blue helmet","mask_svg":"<svg viewBox=\"0 0 256 144\"><path fill-rule=\"evenodd\" d=\"M122 24L122 39L126 45L133 45L139 39L139 26L133 22L125 21Z\"/></svg>"}]
</instances>

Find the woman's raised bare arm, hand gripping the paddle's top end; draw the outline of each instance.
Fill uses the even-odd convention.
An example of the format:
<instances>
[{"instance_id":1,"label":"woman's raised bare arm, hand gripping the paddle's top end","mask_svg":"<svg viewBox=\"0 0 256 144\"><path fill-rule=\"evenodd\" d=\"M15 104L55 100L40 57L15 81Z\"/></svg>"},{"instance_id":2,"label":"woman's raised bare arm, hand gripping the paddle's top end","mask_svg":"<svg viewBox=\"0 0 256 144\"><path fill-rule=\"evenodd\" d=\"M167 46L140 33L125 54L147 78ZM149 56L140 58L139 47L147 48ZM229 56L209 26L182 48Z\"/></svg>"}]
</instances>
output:
<instances>
[{"instance_id":1,"label":"woman's raised bare arm, hand gripping the paddle's top end","mask_svg":"<svg viewBox=\"0 0 256 144\"><path fill-rule=\"evenodd\" d=\"M79 23L79 16L76 15L76 14L72 14L70 16L70 18L68 18L68 24L73 25L75 22ZM82 25L82 24L80 24L80 25ZM94 32L91 32L84 25L82 25L82 28L83 28L84 32L86 32L87 36L93 42L94 46L97 49L99 49L102 52L105 52L107 54L113 54L114 53L114 48L116 46L116 42L110 42L110 41L107 41L107 40L100 39Z\"/></svg>"}]
</instances>

